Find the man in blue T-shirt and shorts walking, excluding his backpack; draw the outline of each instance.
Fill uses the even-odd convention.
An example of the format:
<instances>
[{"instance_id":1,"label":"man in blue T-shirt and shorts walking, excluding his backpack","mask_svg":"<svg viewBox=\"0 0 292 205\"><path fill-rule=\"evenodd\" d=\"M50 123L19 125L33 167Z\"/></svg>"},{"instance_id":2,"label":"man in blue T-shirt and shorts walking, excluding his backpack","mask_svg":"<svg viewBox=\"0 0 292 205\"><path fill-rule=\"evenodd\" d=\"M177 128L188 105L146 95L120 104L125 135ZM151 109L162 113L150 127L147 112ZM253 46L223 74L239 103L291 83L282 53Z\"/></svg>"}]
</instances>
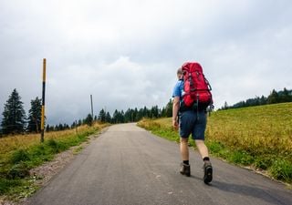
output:
<instances>
[{"instance_id":1,"label":"man in blue T-shirt and shorts walking, excluding his backpack","mask_svg":"<svg viewBox=\"0 0 292 205\"><path fill-rule=\"evenodd\" d=\"M201 66L200 66L201 67ZM201 68L202 69L202 68ZM213 179L213 168L209 159L208 149L204 144L204 131L206 128L206 108L182 108L184 95L183 69L177 70L178 82L173 88L172 126L179 128L180 151L183 162L181 163L181 174L190 177L191 166L189 163L188 138L192 134L196 147L203 159L203 181L208 184ZM211 94L210 94L211 95Z\"/></svg>"}]
</instances>

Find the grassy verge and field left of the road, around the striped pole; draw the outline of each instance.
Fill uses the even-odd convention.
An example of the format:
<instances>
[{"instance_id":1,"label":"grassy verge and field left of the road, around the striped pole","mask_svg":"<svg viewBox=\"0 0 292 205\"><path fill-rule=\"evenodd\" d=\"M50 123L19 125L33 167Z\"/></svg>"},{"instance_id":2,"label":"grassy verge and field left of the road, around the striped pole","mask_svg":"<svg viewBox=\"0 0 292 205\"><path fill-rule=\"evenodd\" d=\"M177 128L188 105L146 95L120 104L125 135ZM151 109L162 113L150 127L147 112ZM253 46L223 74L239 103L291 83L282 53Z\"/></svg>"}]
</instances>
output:
<instances>
[{"instance_id":1,"label":"grassy verge and field left of the road, around the striped pole","mask_svg":"<svg viewBox=\"0 0 292 205\"><path fill-rule=\"evenodd\" d=\"M40 143L40 134L18 135L0 138L0 196L13 200L29 196L37 190L36 176L29 170L54 159L57 153L77 146L89 136L108 125L95 124L57 132L45 133L45 142ZM78 153L80 149L75 152Z\"/></svg>"}]
</instances>

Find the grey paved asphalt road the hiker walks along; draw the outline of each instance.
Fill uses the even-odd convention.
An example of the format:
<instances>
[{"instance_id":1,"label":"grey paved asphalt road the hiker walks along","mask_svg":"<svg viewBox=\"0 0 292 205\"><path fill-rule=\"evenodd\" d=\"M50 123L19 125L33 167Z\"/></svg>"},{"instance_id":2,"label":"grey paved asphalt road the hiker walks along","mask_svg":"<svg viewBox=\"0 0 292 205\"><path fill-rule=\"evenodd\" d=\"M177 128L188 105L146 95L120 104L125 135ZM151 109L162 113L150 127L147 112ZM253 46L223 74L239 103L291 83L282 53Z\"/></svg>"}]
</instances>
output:
<instances>
[{"instance_id":1,"label":"grey paved asphalt road the hiker walks along","mask_svg":"<svg viewBox=\"0 0 292 205\"><path fill-rule=\"evenodd\" d=\"M192 176L179 173L178 144L134 124L112 126L30 204L292 204L292 190L246 169L212 159L214 181L203 183L203 162L191 151Z\"/></svg>"}]
</instances>

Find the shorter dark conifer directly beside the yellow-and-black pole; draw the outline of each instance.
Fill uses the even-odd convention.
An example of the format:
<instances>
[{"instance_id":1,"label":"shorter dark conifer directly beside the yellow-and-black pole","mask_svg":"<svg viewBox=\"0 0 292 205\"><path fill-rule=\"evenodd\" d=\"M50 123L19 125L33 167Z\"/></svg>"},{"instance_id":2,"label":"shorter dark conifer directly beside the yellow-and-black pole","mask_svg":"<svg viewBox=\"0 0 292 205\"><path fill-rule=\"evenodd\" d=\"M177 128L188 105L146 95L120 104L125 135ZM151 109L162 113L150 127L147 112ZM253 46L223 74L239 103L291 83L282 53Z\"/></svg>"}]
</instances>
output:
<instances>
[{"instance_id":1,"label":"shorter dark conifer directly beside the yellow-and-black pole","mask_svg":"<svg viewBox=\"0 0 292 205\"><path fill-rule=\"evenodd\" d=\"M40 123L42 116L42 100L36 97L31 100L31 108L28 111L28 125L26 130L28 132L40 132Z\"/></svg>"}]
</instances>

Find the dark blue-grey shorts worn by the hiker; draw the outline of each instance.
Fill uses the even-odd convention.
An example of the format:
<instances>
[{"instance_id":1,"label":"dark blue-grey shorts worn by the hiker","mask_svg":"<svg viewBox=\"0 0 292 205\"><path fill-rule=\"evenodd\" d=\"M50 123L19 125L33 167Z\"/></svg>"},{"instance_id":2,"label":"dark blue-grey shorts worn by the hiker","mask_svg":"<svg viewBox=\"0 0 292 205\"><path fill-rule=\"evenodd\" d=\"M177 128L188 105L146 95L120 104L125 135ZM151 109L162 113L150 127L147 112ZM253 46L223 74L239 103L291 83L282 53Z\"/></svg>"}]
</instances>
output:
<instances>
[{"instance_id":1,"label":"dark blue-grey shorts worn by the hiker","mask_svg":"<svg viewBox=\"0 0 292 205\"><path fill-rule=\"evenodd\" d=\"M207 125L207 114L204 110L196 112L193 110L184 111L180 116L180 136L204 140L204 130Z\"/></svg>"}]
</instances>

